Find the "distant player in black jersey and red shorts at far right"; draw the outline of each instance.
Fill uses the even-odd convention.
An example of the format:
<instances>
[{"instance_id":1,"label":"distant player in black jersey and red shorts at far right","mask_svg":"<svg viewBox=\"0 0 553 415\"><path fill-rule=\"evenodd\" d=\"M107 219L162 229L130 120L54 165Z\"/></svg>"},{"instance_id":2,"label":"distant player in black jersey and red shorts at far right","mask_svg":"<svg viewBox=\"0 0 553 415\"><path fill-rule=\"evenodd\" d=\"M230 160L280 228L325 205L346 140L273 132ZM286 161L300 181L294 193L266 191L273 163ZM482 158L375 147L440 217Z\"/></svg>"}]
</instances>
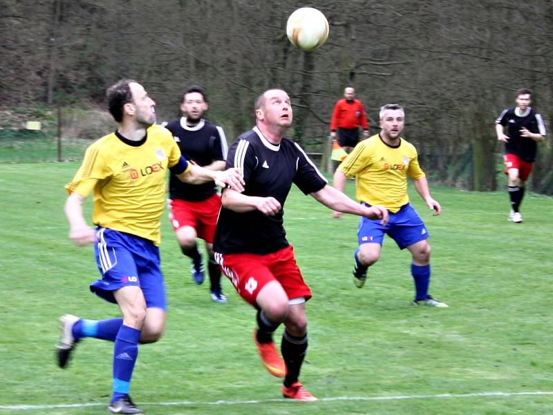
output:
<instances>
[{"instance_id":1,"label":"distant player in black jersey and red shorts at far right","mask_svg":"<svg viewBox=\"0 0 553 415\"><path fill-rule=\"evenodd\" d=\"M505 142L505 174L511 199L509 221L521 223L520 206L525 183L536 160L536 142L545 140L545 125L541 115L530 108L532 91L516 91L516 107L508 108L496 120L497 139ZM507 134L505 134L505 128Z\"/></svg>"}]
</instances>

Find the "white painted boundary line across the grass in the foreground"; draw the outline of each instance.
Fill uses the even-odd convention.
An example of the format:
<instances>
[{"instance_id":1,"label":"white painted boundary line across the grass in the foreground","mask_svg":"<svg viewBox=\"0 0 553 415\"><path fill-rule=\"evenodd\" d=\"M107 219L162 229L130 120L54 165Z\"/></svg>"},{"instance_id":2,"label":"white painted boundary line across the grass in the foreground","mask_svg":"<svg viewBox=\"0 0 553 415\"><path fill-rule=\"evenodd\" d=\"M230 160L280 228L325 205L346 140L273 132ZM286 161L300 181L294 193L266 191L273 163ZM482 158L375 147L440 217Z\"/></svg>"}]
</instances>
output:
<instances>
[{"instance_id":1,"label":"white painted boundary line across the grass in the foreground","mask_svg":"<svg viewBox=\"0 0 553 415\"><path fill-rule=\"evenodd\" d=\"M528 392L474 392L472 394L437 394L437 395L397 395L397 396L337 396L335 398L320 398L319 402L332 402L336 400L404 400L404 399L443 399L443 398L509 398L511 396L553 396L553 391L528 391ZM188 406L188 405L252 405L258 403L283 403L298 402L290 399L264 399L264 400L216 400L214 402L194 402L181 400L176 402L151 402L142 403L144 406ZM71 403L58 405L0 405L0 410L32 411L45 409L84 408L104 406L106 403Z\"/></svg>"}]
</instances>

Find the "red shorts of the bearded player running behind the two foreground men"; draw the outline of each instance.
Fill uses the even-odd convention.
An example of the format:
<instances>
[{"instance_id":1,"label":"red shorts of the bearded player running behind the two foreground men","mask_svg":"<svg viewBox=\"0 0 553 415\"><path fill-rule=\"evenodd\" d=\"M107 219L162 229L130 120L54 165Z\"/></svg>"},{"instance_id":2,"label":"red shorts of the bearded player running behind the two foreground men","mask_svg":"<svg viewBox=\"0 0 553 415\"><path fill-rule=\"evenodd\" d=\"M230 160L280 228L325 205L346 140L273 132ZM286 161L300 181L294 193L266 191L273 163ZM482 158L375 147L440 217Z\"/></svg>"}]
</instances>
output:
<instances>
[{"instance_id":1,"label":"red shorts of the bearded player running behind the two foreground men","mask_svg":"<svg viewBox=\"0 0 553 415\"><path fill-rule=\"evenodd\" d=\"M221 196L218 193L199 202L169 199L169 220L173 229L176 231L182 226L191 226L198 237L207 243L213 243L219 210Z\"/></svg>"}]
</instances>

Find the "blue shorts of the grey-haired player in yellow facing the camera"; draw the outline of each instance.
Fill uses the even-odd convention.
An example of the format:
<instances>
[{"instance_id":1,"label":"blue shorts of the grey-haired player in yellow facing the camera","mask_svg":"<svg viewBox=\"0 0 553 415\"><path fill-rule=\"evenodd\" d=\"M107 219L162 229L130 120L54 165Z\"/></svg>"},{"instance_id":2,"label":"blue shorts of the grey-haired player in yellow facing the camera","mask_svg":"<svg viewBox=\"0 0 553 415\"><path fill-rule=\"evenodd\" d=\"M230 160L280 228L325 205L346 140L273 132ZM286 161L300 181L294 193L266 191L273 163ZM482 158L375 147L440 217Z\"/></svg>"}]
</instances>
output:
<instances>
[{"instance_id":1,"label":"blue shorts of the grey-haired player in yellow facing the camera","mask_svg":"<svg viewBox=\"0 0 553 415\"><path fill-rule=\"evenodd\" d=\"M365 204L366 205L366 204ZM368 205L367 205L368 206ZM386 225L380 223L380 219L361 218L357 230L357 240L362 243L379 243L382 245L384 234L388 234L397 243L400 249L427 239L428 230L411 203L402 206L395 213L390 212L390 220Z\"/></svg>"}]
</instances>

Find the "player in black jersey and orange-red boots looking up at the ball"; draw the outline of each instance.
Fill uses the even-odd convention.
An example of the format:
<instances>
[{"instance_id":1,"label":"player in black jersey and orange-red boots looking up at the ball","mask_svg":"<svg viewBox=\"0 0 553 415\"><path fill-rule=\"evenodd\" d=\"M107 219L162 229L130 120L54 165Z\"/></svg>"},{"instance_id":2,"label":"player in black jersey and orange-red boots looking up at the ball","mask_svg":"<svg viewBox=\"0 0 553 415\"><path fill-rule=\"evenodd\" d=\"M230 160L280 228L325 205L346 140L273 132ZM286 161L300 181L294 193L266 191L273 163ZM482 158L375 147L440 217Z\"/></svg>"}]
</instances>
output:
<instances>
[{"instance_id":1,"label":"player in black jersey and orange-red boots looking up at the ball","mask_svg":"<svg viewBox=\"0 0 553 415\"><path fill-rule=\"evenodd\" d=\"M257 309L254 332L261 360L270 374L283 377L285 398L316 400L299 382L307 351L306 301L311 297L286 240L283 206L297 185L320 203L339 212L388 221L381 206L368 208L327 185L299 145L283 138L292 124L290 98L270 89L255 103L256 127L243 133L229 150L227 167L243 172L245 190L223 190L214 251L218 264L238 294ZM279 355L272 334L283 323Z\"/></svg>"}]
</instances>

